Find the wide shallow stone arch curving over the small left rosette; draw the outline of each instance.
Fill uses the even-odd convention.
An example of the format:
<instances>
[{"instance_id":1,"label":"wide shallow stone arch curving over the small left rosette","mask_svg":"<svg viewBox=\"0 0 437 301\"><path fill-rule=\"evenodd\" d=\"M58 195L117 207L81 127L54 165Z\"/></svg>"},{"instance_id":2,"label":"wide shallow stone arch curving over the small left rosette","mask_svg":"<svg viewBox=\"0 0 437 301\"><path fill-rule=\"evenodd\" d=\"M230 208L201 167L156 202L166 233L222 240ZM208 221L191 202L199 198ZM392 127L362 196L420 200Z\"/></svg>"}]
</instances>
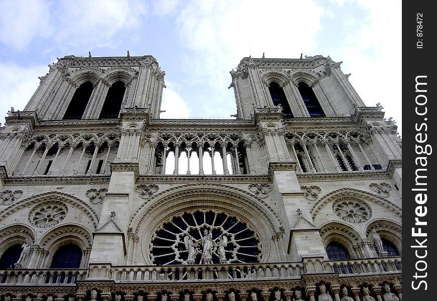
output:
<instances>
[{"instance_id":1,"label":"wide shallow stone arch curving over the small left rosette","mask_svg":"<svg viewBox=\"0 0 437 301\"><path fill-rule=\"evenodd\" d=\"M69 195L66 193L61 193L61 192L56 192L56 191L42 193L42 194L39 194L36 196L31 196L29 198L23 199L21 201L15 202L13 205L9 206L8 208L6 208L0 212L0 221L4 220L6 217L10 216L14 212L17 212L18 210L20 210L22 208L25 208L25 207L28 207L28 206L31 206L34 204L42 203L42 202L47 202L47 201L63 202L63 203L71 204L71 205L77 207L86 216L88 216L88 218L92 222L93 228L95 230L97 230L97 225L98 225L99 219L98 219L98 216L95 213L94 209L91 208L91 206L89 206L88 204L86 204L82 200L80 200L72 195Z\"/></svg>"}]
</instances>

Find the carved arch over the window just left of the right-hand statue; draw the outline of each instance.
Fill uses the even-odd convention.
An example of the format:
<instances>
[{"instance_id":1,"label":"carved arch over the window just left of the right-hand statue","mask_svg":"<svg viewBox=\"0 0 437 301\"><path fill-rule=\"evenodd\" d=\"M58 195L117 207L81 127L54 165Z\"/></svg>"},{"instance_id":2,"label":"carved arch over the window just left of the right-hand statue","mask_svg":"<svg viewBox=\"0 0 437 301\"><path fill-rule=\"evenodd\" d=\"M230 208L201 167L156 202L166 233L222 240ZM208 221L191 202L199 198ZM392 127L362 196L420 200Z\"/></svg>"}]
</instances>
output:
<instances>
[{"instance_id":1,"label":"carved arch over the window just left of the right-hand statue","mask_svg":"<svg viewBox=\"0 0 437 301\"><path fill-rule=\"evenodd\" d=\"M356 257L355 247L362 239L360 233L353 227L342 222L326 222L320 227L320 237L326 249L327 245L335 241L342 244L351 257Z\"/></svg>"}]
</instances>

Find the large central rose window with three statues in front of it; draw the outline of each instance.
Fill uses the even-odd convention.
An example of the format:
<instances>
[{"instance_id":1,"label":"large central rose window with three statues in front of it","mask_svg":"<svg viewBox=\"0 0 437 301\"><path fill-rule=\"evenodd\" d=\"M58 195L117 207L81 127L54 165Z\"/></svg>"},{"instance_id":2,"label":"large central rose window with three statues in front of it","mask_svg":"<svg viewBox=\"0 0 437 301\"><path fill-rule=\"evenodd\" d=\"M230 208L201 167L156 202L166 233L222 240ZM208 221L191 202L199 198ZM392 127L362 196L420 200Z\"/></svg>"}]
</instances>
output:
<instances>
[{"instance_id":1,"label":"large central rose window with three statues in front of it","mask_svg":"<svg viewBox=\"0 0 437 301\"><path fill-rule=\"evenodd\" d=\"M154 264L260 262L261 242L243 220L220 211L196 210L165 221L153 234Z\"/></svg>"}]
</instances>

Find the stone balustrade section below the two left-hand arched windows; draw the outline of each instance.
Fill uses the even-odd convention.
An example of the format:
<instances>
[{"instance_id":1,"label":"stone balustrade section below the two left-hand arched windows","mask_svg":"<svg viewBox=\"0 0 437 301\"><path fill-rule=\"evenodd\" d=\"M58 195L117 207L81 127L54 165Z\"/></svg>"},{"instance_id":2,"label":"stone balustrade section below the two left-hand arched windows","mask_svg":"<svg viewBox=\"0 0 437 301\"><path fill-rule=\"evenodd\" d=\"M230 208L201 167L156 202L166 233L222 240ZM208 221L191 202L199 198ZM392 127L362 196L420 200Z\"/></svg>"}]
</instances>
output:
<instances>
[{"instance_id":1,"label":"stone balustrade section below the two left-hand arched windows","mask_svg":"<svg viewBox=\"0 0 437 301\"><path fill-rule=\"evenodd\" d=\"M0 270L0 285L73 284L86 279L87 269L7 269Z\"/></svg>"}]
</instances>

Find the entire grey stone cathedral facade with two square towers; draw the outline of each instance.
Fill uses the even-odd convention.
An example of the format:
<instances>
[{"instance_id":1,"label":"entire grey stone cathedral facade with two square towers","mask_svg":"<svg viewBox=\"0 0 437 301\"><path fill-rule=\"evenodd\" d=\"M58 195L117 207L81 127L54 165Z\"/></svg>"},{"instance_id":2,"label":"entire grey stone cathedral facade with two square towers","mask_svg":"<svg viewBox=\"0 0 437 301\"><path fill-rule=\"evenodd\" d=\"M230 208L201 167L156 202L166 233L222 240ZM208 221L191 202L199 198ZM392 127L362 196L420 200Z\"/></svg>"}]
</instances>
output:
<instances>
[{"instance_id":1,"label":"entire grey stone cathedral facade with two square towers","mask_svg":"<svg viewBox=\"0 0 437 301\"><path fill-rule=\"evenodd\" d=\"M152 56L66 56L0 128L0 296L401 300L401 140L330 57L244 58L160 118Z\"/></svg>"}]
</instances>

